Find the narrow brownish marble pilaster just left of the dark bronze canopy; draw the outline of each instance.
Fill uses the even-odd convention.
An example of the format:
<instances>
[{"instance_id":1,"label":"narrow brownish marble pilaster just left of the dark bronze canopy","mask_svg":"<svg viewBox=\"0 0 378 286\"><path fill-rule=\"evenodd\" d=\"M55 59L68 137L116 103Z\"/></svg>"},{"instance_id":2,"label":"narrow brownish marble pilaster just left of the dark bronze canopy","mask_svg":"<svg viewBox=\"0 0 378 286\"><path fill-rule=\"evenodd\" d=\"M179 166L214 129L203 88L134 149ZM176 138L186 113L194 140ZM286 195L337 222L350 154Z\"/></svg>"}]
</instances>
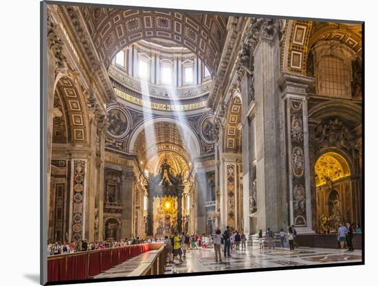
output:
<instances>
[{"instance_id":1,"label":"narrow brownish marble pilaster just left of the dark bronze canopy","mask_svg":"<svg viewBox=\"0 0 378 286\"><path fill-rule=\"evenodd\" d=\"M133 235L133 168L122 170L122 213L121 213L121 239L130 239Z\"/></svg>"}]
</instances>

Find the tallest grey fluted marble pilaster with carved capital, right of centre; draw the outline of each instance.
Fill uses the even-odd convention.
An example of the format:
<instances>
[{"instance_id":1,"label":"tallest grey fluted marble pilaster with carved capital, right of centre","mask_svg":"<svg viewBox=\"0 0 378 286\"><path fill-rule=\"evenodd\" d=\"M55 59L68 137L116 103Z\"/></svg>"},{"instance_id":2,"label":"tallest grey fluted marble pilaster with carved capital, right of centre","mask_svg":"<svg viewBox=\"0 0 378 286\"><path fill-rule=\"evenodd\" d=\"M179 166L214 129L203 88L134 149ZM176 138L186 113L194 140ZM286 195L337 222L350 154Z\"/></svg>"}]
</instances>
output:
<instances>
[{"instance_id":1,"label":"tallest grey fluted marble pilaster with carved capital, right of centre","mask_svg":"<svg viewBox=\"0 0 378 286\"><path fill-rule=\"evenodd\" d=\"M278 80L280 78L280 35L278 19L252 19L256 43L254 98L256 111L257 228L274 232L287 227L285 197L285 138Z\"/></svg>"}]
</instances>

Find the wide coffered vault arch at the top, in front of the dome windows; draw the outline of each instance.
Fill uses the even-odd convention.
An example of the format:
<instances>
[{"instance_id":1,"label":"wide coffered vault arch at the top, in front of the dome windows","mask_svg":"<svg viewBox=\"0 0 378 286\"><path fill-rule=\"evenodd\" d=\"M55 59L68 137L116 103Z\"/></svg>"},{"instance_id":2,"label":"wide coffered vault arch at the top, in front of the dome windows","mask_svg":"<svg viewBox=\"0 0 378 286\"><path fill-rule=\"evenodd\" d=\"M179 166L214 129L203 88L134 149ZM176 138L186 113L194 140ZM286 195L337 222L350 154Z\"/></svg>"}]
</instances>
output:
<instances>
[{"instance_id":1,"label":"wide coffered vault arch at the top, in front of the dome windows","mask_svg":"<svg viewBox=\"0 0 378 286\"><path fill-rule=\"evenodd\" d=\"M124 47L141 39L168 39L197 54L216 72L225 38L227 17L182 12L80 8L89 34L106 67Z\"/></svg>"}]
</instances>

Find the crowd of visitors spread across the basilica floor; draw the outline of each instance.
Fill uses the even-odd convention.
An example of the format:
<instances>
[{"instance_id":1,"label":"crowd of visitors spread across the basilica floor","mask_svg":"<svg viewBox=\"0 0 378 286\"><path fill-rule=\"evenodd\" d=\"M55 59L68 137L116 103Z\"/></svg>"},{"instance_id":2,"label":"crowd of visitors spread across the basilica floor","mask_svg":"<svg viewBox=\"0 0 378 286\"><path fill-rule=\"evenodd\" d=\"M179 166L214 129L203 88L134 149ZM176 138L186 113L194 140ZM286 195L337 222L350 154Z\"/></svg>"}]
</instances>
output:
<instances>
[{"instance_id":1,"label":"crowd of visitors spread across the basilica floor","mask_svg":"<svg viewBox=\"0 0 378 286\"><path fill-rule=\"evenodd\" d=\"M339 224L337 230L337 241L340 248L348 248L347 251L353 251L353 233L361 232L361 228L357 225L346 223L344 226L343 223ZM280 229L280 247L285 248L285 241L289 243L290 251L293 251L294 248L298 248L298 243L296 241L296 228L294 225L289 225L287 231L285 232L282 228ZM265 235L263 230L258 231L258 245L260 252L265 248L265 244L269 249L276 248L276 234L270 229L267 228ZM87 250L101 250L104 248L116 248L123 247L126 245L133 245L138 243L154 243L162 242L166 244L168 251L168 259L170 262L175 263L175 259L178 257L179 262L182 262L183 259L186 259L186 254L189 250L199 250L203 248L214 248L215 252L215 261L221 262L221 252L223 250L224 257L230 257L231 252L238 252L246 250L247 237L244 232L239 233L237 230L232 231L227 225L225 231L222 233L221 230L217 229L213 234L201 236L197 234L188 235L182 232L179 234L175 232L174 235L165 236L165 237L155 237L155 238L146 238L140 239L139 237L133 237L131 239L122 239L121 241L96 241L88 242L83 240L80 243L74 241L63 241L60 243L56 241L55 243L49 243L47 245L47 254L56 255L56 254L67 254L73 252L87 251Z\"/></svg>"}]
</instances>

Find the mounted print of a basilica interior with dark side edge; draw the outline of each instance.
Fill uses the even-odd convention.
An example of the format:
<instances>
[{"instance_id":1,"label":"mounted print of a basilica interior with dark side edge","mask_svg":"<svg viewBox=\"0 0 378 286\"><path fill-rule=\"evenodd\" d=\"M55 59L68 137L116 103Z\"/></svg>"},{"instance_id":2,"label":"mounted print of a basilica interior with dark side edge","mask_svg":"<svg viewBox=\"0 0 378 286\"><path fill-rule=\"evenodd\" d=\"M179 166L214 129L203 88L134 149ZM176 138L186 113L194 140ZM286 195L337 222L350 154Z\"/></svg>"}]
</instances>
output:
<instances>
[{"instance_id":1,"label":"mounted print of a basilica interior with dark side edge","mask_svg":"<svg viewBox=\"0 0 378 286\"><path fill-rule=\"evenodd\" d=\"M43 1L41 43L41 284L364 264L364 22Z\"/></svg>"}]
</instances>

